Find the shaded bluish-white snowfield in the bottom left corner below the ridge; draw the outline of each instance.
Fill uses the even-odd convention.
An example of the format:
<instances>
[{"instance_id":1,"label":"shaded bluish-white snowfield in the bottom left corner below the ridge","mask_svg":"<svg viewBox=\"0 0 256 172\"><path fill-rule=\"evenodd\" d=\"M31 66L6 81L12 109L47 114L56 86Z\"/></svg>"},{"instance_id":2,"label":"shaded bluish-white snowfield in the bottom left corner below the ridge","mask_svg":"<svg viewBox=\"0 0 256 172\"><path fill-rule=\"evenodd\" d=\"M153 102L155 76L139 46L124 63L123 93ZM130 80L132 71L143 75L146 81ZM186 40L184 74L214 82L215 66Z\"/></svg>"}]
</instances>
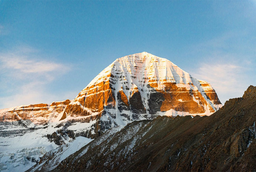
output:
<instances>
[{"instance_id":1,"label":"shaded bluish-white snowfield in the bottom left corner below the ridge","mask_svg":"<svg viewBox=\"0 0 256 172\"><path fill-rule=\"evenodd\" d=\"M33 157L40 160L46 152L56 149L58 145L50 142L45 135L52 134L60 128L54 128L52 125L44 128L43 125L36 125L34 131L17 125L5 128L9 134L0 136L0 171L26 171L35 162L27 158ZM32 126L32 125L31 125Z\"/></svg>"}]
</instances>

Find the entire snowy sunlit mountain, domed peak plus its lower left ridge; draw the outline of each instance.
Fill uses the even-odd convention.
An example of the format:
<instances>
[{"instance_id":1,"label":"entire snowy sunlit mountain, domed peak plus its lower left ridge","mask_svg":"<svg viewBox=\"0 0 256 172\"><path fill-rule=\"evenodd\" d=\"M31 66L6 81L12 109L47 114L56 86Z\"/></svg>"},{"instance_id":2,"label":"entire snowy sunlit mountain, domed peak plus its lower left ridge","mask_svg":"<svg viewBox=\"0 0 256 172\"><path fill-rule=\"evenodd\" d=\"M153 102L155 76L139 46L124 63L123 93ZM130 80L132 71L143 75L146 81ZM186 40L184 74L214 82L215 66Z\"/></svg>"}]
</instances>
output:
<instances>
[{"instance_id":1,"label":"entire snowy sunlit mountain, domed peak plus its lower left ridge","mask_svg":"<svg viewBox=\"0 0 256 172\"><path fill-rule=\"evenodd\" d=\"M133 121L211 115L220 107L209 83L165 58L146 52L117 58L73 100L0 110L0 170L25 171L46 152Z\"/></svg>"}]
</instances>

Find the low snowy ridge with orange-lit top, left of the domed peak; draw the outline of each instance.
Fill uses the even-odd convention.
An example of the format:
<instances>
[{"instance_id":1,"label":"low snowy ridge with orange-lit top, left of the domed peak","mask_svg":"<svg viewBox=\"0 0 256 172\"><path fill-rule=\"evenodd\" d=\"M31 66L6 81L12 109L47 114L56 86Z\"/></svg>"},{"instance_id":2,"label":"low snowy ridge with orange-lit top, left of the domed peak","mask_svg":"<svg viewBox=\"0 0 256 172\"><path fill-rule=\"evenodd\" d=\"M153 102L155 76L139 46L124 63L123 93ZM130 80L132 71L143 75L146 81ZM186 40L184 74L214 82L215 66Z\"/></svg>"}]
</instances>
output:
<instances>
[{"instance_id":1,"label":"low snowy ridge with orange-lit top, left of the domed peak","mask_svg":"<svg viewBox=\"0 0 256 172\"><path fill-rule=\"evenodd\" d=\"M26 171L60 145L83 146L90 142L92 139L79 137L87 130L87 123L74 123L74 128L68 121L56 122L69 103L66 100L0 110L0 171Z\"/></svg>"}]
</instances>

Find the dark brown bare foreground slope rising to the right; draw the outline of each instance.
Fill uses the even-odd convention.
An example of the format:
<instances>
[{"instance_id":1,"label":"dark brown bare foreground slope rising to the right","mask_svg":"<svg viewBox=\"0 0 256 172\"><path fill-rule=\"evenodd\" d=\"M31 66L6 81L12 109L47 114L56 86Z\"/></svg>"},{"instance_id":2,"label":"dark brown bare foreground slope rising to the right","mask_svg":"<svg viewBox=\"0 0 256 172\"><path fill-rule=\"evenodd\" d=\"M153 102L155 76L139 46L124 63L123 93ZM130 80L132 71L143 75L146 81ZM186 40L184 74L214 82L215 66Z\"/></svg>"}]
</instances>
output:
<instances>
[{"instance_id":1,"label":"dark brown bare foreground slope rising to the right","mask_svg":"<svg viewBox=\"0 0 256 172\"><path fill-rule=\"evenodd\" d=\"M256 87L211 116L159 116L108 132L52 171L256 171ZM115 130L113 128L112 130ZM31 171L47 171L46 154ZM40 168L38 168L40 167Z\"/></svg>"}]
</instances>

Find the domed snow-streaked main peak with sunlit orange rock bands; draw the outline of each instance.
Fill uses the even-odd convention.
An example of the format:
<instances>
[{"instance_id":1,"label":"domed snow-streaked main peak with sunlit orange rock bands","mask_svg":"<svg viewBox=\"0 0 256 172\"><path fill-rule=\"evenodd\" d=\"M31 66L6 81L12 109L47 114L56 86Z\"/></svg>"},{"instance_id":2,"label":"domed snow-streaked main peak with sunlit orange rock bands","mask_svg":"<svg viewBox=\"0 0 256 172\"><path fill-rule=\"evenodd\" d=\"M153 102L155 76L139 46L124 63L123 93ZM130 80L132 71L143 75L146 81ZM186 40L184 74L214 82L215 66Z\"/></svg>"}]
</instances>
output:
<instances>
[{"instance_id":1,"label":"domed snow-streaked main peak with sunlit orange rock bands","mask_svg":"<svg viewBox=\"0 0 256 172\"><path fill-rule=\"evenodd\" d=\"M158 115L210 115L221 106L209 83L143 52L117 58L66 107L61 119L98 119L97 130L108 130Z\"/></svg>"}]
</instances>

